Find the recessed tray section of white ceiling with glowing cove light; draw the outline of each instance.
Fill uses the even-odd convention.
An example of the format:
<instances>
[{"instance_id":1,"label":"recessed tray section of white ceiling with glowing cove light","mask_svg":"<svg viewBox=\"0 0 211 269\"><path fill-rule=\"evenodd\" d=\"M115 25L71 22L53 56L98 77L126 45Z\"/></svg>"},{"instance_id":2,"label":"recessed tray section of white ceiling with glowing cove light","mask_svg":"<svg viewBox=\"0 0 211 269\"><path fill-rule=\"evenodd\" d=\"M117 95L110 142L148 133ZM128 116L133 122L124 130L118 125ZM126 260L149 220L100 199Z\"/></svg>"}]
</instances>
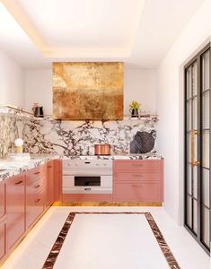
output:
<instances>
[{"instance_id":1,"label":"recessed tray section of white ceiling with glowing cove light","mask_svg":"<svg viewBox=\"0 0 211 269\"><path fill-rule=\"evenodd\" d=\"M47 57L128 57L144 3L145 0L5 1Z\"/></svg>"}]
</instances>

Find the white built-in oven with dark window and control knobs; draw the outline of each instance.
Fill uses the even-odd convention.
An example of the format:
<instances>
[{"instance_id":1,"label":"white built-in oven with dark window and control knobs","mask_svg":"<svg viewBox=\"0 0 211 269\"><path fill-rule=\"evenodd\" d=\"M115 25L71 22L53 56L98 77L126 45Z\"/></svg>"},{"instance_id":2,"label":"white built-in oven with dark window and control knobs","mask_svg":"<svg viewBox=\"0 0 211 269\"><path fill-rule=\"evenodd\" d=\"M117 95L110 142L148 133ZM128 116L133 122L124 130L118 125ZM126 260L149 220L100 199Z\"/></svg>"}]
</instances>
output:
<instances>
[{"instance_id":1,"label":"white built-in oven with dark window and control knobs","mask_svg":"<svg viewBox=\"0 0 211 269\"><path fill-rule=\"evenodd\" d=\"M112 161L64 160L63 194L112 194Z\"/></svg>"}]
</instances>

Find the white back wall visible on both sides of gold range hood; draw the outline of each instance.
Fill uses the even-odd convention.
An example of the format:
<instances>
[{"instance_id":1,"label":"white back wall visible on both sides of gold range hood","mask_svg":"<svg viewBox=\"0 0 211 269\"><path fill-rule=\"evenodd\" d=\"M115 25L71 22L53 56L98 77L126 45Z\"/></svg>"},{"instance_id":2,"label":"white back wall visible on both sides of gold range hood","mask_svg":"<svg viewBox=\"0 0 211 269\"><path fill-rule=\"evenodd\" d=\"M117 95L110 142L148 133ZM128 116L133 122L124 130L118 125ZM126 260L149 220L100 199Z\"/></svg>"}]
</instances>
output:
<instances>
[{"instance_id":1,"label":"white back wall visible on both sides of gold range hood","mask_svg":"<svg viewBox=\"0 0 211 269\"><path fill-rule=\"evenodd\" d=\"M156 113L155 72L150 69L125 70L124 108L132 100L138 100L142 108ZM31 110L34 102L45 109L45 114L52 115L52 72L50 69L27 70L25 72L25 107Z\"/></svg>"}]
</instances>

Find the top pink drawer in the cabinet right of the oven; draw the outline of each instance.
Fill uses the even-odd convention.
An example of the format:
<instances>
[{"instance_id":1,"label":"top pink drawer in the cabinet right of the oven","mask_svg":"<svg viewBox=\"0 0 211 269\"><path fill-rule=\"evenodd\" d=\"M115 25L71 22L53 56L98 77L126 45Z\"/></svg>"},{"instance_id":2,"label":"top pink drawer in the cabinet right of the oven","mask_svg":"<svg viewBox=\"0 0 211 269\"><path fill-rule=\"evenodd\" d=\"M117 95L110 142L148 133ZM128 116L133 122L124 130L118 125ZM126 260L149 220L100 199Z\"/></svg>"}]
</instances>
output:
<instances>
[{"instance_id":1,"label":"top pink drawer in the cabinet right of the oven","mask_svg":"<svg viewBox=\"0 0 211 269\"><path fill-rule=\"evenodd\" d=\"M114 169L120 169L120 170L159 170L161 169L161 161L127 161L127 160L121 160L121 161L114 161Z\"/></svg>"}]
</instances>

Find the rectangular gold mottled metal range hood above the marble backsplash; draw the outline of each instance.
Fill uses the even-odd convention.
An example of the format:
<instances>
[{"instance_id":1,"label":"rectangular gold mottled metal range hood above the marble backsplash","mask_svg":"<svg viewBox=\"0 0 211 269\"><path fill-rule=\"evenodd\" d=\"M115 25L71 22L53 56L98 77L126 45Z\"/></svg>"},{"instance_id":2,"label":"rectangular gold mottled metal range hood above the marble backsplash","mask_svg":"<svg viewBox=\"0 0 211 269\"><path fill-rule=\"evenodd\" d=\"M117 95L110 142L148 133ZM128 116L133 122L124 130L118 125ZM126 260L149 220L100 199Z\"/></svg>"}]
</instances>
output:
<instances>
[{"instance_id":1,"label":"rectangular gold mottled metal range hood above the marble backsplash","mask_svg":"<svg viewBox=\"0 0 211 269\"><path fill-rule=\"evenodd\" d=\"M123 87L123 63L53 63L54 117L123 119Z\"/></svg>"}]
</instances>

